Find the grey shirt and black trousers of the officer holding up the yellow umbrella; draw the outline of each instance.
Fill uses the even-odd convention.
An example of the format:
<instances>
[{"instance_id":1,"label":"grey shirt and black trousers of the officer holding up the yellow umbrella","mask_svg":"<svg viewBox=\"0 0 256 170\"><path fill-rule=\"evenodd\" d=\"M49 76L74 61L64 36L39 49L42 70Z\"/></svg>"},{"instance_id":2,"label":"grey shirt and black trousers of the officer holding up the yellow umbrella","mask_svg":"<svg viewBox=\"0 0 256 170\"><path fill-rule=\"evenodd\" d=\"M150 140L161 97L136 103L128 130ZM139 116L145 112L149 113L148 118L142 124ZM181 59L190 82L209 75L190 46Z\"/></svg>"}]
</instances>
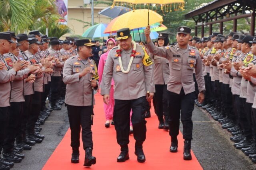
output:
<instances>
[{"instance_id":1,"label":"grey shirt and black trousers of the officer holding up the yellow umbrella","mask_svg":"<svg viewBox=\"0 0 256 170\"><path fill-rule=\"evenodd\" d=\"M179 45L156 47L152 41L146 45L150 53L165 57L170 63L170 77L167 85L170 102L170 131L172 137L179 133L180 110L183 124L183 138L192 139L192 111L194 110L195 82L193 72L196 72L199 92L205 90L202 61L199 51L188 45L180 49Z\"/></svg>"}]
</instances>

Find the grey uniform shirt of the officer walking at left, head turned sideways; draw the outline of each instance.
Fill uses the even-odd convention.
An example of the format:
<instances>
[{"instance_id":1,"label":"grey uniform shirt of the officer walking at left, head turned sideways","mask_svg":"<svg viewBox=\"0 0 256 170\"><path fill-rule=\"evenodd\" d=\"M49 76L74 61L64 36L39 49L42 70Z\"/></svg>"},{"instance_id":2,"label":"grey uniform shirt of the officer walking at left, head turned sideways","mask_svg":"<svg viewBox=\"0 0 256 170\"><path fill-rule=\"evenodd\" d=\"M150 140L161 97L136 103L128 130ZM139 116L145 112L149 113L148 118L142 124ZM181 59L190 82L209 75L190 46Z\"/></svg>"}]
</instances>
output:
<instances>
[{"instance_id":1,"label":"grey uniform shirt of the officer walking at left, head turned sideways","mask_svg":"<svg viewBox=\"0 0 256 170\"><path fill-rule=\"evenodd\" d=\"M86 67L91 67L97 73L93 60L82 61L79 55L66 60L63 68L63 82L66 86L65 103L72 106L92 105L92 86L90 80L94 74L86 74L79 78L79 73Z\"/></svg>"}]
</instances>

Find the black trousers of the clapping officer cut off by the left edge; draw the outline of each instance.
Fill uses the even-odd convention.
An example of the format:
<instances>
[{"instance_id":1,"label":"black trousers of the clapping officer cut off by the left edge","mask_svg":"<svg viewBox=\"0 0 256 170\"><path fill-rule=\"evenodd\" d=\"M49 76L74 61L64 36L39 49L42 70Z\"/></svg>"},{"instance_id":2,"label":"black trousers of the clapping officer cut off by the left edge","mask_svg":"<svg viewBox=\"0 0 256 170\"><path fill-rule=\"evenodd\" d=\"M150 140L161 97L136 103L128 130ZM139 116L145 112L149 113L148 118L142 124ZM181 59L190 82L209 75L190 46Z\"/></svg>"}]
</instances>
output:
<instances>
[{"instance_id":1,"label":"black trousers of the clapping officer cut off by the left edge","mask_svg":"<svg viewBox=\"0 0 256 170\"><path fill-rule=\"evenodd\" d=\"M6 139L7 127L9 122L9 112L10 106L0 107L0 153L2 151L4 139Z\"/></svg>"}]
</instances>

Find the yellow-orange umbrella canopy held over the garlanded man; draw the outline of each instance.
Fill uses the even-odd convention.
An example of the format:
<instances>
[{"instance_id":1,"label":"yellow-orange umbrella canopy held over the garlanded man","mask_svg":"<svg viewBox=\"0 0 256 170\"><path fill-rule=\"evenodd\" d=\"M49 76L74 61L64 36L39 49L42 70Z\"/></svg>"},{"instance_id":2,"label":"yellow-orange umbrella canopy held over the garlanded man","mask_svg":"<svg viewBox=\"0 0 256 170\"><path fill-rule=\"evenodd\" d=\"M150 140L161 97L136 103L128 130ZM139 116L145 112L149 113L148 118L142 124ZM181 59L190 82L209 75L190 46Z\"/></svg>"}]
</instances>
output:
<instances>
[{"instance_id":1,"label":"yellow-orange umbrella canopy held over the garlanded man","mask_svg":"<svg viewBox=\"0 0 256 170\"><path fill-rule=\"evenodd\" d=\"M146 27L148 26L148 15L150 25L163 21L162 16L152 10L133 10L112 20L106 27L104 33L112 33L122 28L134 29Z\"/></svg>"}]
</instances>

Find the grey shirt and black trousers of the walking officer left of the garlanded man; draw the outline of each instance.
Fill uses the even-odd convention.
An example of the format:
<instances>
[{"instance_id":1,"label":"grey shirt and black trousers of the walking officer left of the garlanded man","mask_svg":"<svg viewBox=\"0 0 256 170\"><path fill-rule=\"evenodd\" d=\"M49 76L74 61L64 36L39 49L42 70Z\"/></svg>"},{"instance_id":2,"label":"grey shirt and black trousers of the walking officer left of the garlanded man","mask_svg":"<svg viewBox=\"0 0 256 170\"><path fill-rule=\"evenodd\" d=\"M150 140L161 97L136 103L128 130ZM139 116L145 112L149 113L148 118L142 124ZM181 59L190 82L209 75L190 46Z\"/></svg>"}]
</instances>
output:
<instances>
[{"instance_id":1,"label":"grey shirt and black trousers of the walking officer left of the garlanded man","mask_svg":"<svg viewBox=\"0 0 256 170\"><path fill-rule=\"evenodd\" d=\"M88 73L79 78L80 72L91 67L95 74ZM79 55L71 57L64 64L63 82L66 86L65 103L68 108L68 118L71 129L71 147L78 149L80 145L80 126L82 126L82 141L84 150L93 147L92 143L92 77L98 79L96 64L89 58L82 60ZM95 102L94 102L95 103Z\"/></svg>"}]
</instances>

